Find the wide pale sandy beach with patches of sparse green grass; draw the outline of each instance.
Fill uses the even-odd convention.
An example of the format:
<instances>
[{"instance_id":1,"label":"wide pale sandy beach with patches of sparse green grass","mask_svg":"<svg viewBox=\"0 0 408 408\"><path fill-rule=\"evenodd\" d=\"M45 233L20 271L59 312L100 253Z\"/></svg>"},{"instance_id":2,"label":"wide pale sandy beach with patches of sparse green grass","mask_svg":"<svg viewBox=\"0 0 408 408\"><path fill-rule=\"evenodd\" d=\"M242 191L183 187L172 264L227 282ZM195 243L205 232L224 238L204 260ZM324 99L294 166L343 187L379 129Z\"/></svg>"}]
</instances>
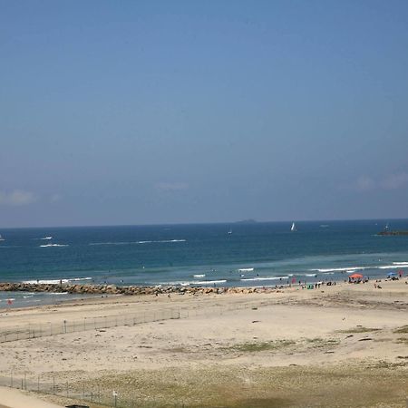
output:
<instances>
[{"instance_id":1,"label":"wide pale sandy beach with patches of sparse green grass","mask_svg":"<svg viewBox=\"0 0 408 408\"><path fill-rule=\"evenodd\" d=\"M66 387L67 394L107 399L115 391L118 406L405 407L405 282L383 280L381 289L369 282L272 293L112 296L2 310L1 333L180 311L180 318L2 343L2 384L11 376L15 383L25 378L27 389L54 383L60 396L42 397L61 405L73 401L61 396ZM9 406L1 395L0 403Z\"/></svg>"}]
</instances>

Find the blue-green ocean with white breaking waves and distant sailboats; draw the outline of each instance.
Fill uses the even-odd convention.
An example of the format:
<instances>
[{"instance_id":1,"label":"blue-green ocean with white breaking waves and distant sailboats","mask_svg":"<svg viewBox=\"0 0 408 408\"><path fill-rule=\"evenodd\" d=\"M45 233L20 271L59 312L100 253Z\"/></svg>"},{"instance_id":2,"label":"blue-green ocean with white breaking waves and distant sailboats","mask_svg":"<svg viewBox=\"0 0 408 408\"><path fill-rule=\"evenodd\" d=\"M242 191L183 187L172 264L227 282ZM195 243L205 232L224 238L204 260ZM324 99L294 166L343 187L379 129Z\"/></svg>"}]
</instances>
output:
<instances>
[{"instance_id":1,"label":"blue-green ocean with white breaking waves and distant sailboats","mask_svg":"<svg viewBox=\"0 0 408 408\"><path fill-rule=\"evenodd\" d=\"M386 220L1 229L0 281L270 287L408 272L408 236ZM390 229L408 230L408 219ZM404 274L406 275L406 273ZM67 295L0 293L15 306ZM26 297L24 297L26 296ZM69 296L72 298L72 296Z\"/></svg>"}]
</instances>

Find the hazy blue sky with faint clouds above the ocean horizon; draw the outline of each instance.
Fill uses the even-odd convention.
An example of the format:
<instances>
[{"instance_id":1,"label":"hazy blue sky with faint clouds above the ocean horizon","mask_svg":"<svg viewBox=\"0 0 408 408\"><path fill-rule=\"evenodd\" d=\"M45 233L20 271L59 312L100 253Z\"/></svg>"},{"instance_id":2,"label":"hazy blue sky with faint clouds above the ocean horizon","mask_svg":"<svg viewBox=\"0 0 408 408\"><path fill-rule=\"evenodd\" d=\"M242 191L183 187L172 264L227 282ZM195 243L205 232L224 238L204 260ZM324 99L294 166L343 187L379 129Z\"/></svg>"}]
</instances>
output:
<instances>
[{"instance_id":1,"label":"hazy blue sky with faint clouds above the ocean horizon","mask_svg":"<svg viewBox=\"0 0 408 408\"><path fill-rule=\"evenodd\" d=\"M0 0L0 228L408 218L408 2Z\"/></svg>"}]
</instances>

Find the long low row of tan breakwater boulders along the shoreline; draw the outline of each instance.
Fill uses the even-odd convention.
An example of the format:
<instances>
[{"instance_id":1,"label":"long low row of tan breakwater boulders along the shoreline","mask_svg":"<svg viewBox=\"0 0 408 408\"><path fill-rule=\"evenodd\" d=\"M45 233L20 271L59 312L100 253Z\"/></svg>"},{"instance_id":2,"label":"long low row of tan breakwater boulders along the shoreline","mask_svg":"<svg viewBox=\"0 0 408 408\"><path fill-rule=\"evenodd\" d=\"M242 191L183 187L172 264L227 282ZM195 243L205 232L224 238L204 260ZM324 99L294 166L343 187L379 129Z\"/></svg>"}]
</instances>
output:
<instances>
[{"instance_id":1,"label":"long low row of tan breakwater boulders along the shoreline","mask_svg":"<svg viewBox=\"0 0 408 408\"><path fill-rule=\"evenodd\" d=\"M49 292L83 295L160 295L160 294L223 294L223 293L266 293L276 292L270 287L116 287L114 285L70 285L0 283L2 292Z\"/></svg>"}]
</instances>

